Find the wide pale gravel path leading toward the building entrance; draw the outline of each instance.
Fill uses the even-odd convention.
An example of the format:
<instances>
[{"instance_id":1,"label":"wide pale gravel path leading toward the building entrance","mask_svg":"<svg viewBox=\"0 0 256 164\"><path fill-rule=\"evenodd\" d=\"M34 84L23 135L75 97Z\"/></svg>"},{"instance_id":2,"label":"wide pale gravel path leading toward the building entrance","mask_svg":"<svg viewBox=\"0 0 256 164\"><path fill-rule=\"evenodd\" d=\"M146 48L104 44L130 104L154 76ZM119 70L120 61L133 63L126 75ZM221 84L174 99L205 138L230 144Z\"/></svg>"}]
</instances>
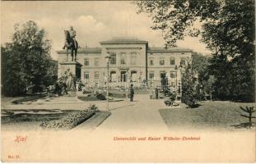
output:
<instances>
[{"instance_id":1,"label":"wide pale gravel path leading toward the building entrance","mask_svg":"<svg viewBox=\"0 0 256 164\"><path fill-rule=\"evenodd\" d=\"M163 100L136 94L134 102L112 108L112 115L97 130L167 130L159 109L166 108Z\"/></svg>"}]
</instances>

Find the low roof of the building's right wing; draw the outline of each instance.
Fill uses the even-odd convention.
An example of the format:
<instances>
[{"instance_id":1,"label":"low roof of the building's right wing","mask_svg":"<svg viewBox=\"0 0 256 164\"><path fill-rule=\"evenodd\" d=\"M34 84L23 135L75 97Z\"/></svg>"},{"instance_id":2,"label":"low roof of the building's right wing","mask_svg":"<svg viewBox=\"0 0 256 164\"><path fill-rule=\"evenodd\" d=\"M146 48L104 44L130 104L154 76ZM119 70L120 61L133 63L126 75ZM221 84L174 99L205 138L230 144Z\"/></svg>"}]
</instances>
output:
<instances>
[{"instance_id":1,"label":"low roof of the building's right wing","mask_svg":"<svg viewBox=\"0 0 256 164\"><path fill-rule=\"evenodd\" d=\"M147 52L192 52L189 48L163 48L163 47L151 47Z\"/></svg>"}]
</instances>

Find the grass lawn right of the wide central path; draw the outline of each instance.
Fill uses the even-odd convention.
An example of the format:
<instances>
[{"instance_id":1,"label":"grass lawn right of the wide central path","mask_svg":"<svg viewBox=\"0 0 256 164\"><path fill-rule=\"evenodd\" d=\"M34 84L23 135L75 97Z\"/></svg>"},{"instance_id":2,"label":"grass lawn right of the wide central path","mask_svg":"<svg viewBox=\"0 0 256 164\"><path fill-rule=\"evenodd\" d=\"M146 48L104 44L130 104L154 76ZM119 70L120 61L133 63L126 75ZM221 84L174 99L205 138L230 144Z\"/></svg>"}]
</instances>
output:
<instances>
[{"instance_id":1,"label":"grass lawn right of the wide central path","mask_svg":"<svg viewBox=\"0 0 256 164\"><path fill-rule=\"evenodd\" d=\"M233 125L247 122L248 118L240 107L254 106L254 103L204 102L199 107L160 109L159 112L166 125L170 128L235 130ZM255 116L255 112L253 113ZM255 123L255 120L253 120Z\"/></svg>"}]
</instances>

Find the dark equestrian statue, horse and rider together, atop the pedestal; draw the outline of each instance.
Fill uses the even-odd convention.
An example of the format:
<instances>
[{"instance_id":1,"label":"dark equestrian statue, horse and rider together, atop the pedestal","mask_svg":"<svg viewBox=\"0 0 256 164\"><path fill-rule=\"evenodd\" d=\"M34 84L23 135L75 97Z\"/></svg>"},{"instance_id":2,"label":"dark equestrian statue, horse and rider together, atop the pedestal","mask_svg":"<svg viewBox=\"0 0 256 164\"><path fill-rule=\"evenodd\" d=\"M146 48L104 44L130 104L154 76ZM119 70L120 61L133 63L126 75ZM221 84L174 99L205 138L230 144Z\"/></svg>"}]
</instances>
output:
<instances>
[{"instance_id":1,"label":"dark equestrian statue, horse and rider together, atop the pedestal","mask_svg":"<svg viewBox=\"0 0 256 164\"><path fill-rule=\"evenodd\" d=\"M78 43L77 40L75 39L77 33L76 31L73 29L73 27L70 27L70 30L64 30L64 34L65 34L65 44L63 49L66 48L67 50L67 57L68 57L68 50L71 50L71 56L72 56L72 62L76 62L77 61L77 48L78 48ZM75 60L74 60L74 52L75 52Z\"/></svg>"}]
</instances>

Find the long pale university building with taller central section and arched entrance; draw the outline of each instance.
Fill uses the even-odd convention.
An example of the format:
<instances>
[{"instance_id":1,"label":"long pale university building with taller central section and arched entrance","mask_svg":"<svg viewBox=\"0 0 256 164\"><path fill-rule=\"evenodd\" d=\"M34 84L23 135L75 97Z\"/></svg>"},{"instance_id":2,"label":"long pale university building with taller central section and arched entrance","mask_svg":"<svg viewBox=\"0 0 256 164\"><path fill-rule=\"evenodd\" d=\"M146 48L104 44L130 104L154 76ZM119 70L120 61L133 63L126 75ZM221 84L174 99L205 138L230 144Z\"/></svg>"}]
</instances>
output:
<instances>
[{"instance_id":1,"label":"long pale university building with taller central section and arched entrance","mask_svg":"<svg viewBox=\"0 0 256 164\"><path fill-rule=\"evenodd\" d=\"M156 48L137 38L113 38L100 42L100 48L78 49L77 62L81 64L81 69L77 76L81 81L90 86L105 84L108 53L110 83L123 85L148 81L149 84L159 85L161 77L165 76L174 89L180 85L180 69L192 57L192 51L187 48ZM63 75L68 63L66 51L58 51L58 78Z\"/></svg>"}]
</instances>

